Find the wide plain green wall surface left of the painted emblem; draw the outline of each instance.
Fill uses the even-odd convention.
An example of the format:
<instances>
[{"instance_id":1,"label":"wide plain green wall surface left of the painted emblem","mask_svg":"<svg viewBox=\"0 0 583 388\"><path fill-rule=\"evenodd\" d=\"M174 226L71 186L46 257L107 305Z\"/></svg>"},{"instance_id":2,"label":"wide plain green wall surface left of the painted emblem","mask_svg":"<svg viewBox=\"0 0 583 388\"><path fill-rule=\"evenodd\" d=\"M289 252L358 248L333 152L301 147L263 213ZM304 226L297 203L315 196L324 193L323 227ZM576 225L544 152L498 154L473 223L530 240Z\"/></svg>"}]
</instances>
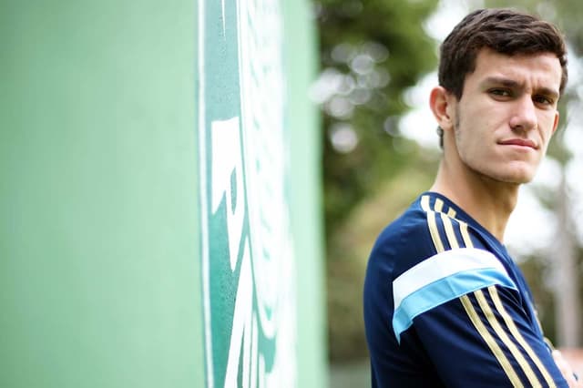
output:
<instances>
[{"instance_id":1,"label":"wide plain green wall surface left of the painted emblem","mask_svg":"<svg viewBox=\"0 0 583 388\"><path fill-rule=\"evenodd\" d=\"M195 10L0 5L0 386L202 384Z\"/></svg>"}]
</instances>

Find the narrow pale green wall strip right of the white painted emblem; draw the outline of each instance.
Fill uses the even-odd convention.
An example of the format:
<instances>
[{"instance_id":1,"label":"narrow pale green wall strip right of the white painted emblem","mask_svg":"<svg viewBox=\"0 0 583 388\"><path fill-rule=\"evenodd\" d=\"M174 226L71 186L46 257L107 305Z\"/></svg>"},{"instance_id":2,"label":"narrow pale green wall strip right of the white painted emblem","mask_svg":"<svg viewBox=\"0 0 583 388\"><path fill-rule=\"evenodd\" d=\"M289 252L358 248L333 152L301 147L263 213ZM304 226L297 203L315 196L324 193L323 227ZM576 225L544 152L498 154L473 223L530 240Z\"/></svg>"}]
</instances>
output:
<instances>
[{"instance_id":1,"label":"narrow pale green wall strip right of the white painted emblem","mask_svg":"<svg viewBox=\"0 0 583 388\"><path fill-rule=\"evenodd\" d=\"M326 387L326 302L322 248L321 131L306 96L316 75L315 26L310 1L283 2L284 56L288 69L288 126L292 137L292 230L297 260L298 387Z\"/></svg>"}]
</instances>

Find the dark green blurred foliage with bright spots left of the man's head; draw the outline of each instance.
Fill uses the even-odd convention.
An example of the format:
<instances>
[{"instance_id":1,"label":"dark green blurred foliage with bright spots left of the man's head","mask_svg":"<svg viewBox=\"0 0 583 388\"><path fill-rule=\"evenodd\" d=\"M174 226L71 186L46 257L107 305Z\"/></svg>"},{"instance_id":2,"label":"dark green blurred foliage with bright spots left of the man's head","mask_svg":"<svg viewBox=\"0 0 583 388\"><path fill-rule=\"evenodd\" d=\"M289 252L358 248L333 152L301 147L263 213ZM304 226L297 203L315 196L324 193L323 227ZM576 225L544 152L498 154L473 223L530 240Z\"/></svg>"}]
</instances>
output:
<instances>
[{"instance_id":1,"label":"dark green blurred foliage with bright spots left of the man's head","mask_svg":"<svg viewBox=\"0 0 583 388\"><path fill-rule=\"evenodd\" d=\"M426 36L423 22L436 4L314 2L322 58L317 98L323 111L328 236L363 197L404 168L407 152L414 149L399 138L398 117L409 108L404 89L435 67L435 42Z\"/></svg>"}]
</instances>

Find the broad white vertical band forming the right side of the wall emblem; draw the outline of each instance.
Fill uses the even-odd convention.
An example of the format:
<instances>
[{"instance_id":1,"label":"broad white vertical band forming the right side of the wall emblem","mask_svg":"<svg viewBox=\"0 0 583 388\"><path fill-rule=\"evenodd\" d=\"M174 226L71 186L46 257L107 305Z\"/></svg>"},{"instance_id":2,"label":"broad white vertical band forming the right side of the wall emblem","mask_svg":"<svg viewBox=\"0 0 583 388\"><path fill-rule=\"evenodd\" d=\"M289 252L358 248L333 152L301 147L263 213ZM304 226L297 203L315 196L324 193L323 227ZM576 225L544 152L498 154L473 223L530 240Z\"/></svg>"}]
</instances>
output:
<instances>
[{"instance_id":1,"label":"broad white vertical band forming the right side of the wall emblem","mask_svg":"<svg viewBox=\"0 0 583 388\"><path fill-rule=\"evenodd\" d=\"M241 123L259 327L275 342L264 386L295 386L295 266L285 183L289 151L284 128L285 78L280 3L241 0ZM265 354L260 351L260 364ZM260 368L261 370L261 368ZM260 379L263 373L260 372Z\"/></svg>"}]
</instances>

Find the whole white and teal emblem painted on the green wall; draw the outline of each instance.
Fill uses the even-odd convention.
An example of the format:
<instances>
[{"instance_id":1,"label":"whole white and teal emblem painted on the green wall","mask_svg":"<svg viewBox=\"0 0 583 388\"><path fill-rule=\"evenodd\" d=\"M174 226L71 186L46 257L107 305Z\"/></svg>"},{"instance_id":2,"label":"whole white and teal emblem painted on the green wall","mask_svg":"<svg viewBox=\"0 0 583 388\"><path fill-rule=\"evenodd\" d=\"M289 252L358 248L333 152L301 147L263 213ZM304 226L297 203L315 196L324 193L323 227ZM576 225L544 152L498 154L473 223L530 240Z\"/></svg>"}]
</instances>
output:
<instances>
[{"instance_id":1,"label":"whole white and teal emblem painted on the green wall","mask_svg":"<svg viewBox=\"0 0 583 388\"><path fill-rule=\"evenodd\" d=\"M213 24L201 29L199 40L207 47L204 55L212 56L205 58L201 75L210 103L201 102L209 117L206 135L200 137L201 154L208 155L201 173L210 185L203 188L210 196L203 204L210 210L204 220L208 234L203 255L207 383L294 387L296 269L287 197L290 166L280 2L226 0L215 5L200 0L203 3L212 11L201 17L201 23L215 17L223 22L219 31L212 29ZM225 46L205 46L208 31L224 37L217 42ZM228 62L235 58L231 51L235 47L237 62ZM234 73L216 76L219 68ZM224 90L213 88L213 82ZM233 101L239 101L239 109Z\"/></svg>"}]
</instances>

